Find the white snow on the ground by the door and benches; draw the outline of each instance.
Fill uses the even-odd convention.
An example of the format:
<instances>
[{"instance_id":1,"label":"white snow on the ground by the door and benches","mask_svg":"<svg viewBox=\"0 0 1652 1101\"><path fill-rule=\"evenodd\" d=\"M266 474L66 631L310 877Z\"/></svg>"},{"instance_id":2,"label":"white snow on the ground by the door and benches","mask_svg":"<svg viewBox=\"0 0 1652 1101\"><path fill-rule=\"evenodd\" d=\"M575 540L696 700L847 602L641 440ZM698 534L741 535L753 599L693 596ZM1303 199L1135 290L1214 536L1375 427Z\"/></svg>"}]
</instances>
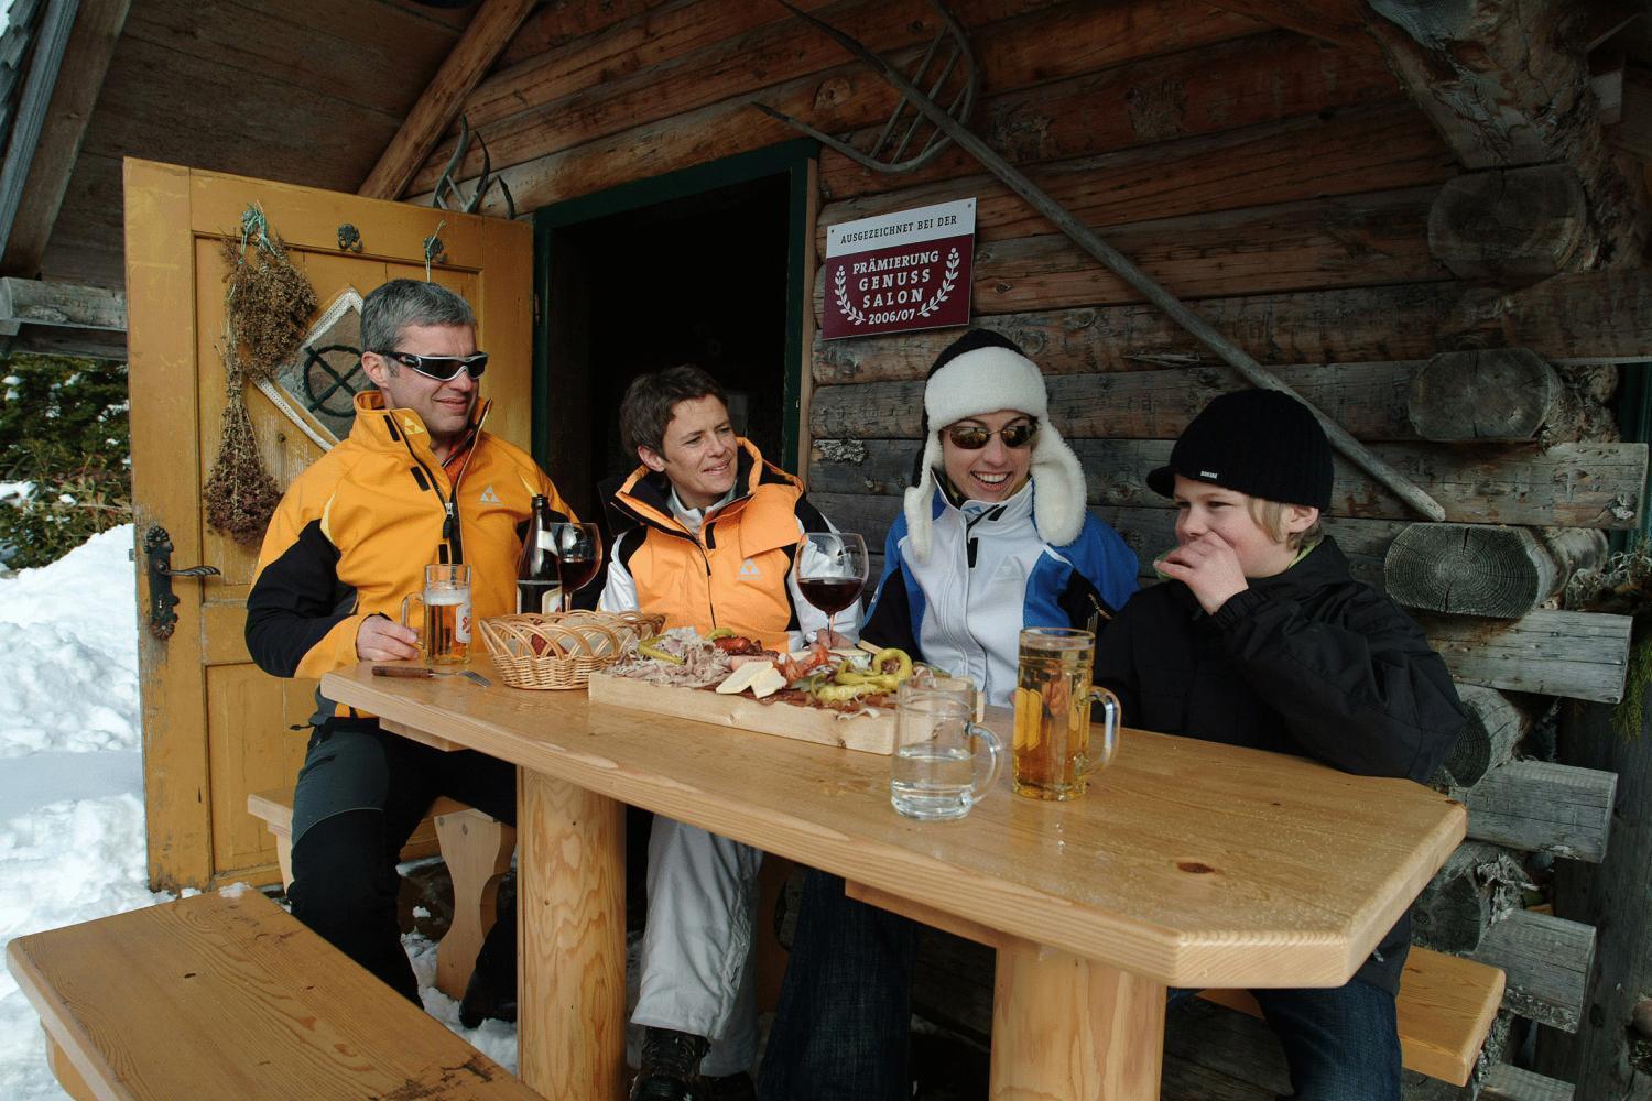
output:
<instances>
[{"instance_id":1,"label":"white snow on the ground by the door and benches","mask_svg":"<svg viewBox=\"0 0 1652 1101\"><path fill-rule=\"evenodd\" d=\"M131 550L127 525L0 578L0 949L170 898L145 883ZM459 1027L458 1004L431 987L434 944L406 944L425 1009L515 1070L515 1027ZM64 1096L33 1007L0 971L0 1098Z\"/></svg>"}]
</instances>

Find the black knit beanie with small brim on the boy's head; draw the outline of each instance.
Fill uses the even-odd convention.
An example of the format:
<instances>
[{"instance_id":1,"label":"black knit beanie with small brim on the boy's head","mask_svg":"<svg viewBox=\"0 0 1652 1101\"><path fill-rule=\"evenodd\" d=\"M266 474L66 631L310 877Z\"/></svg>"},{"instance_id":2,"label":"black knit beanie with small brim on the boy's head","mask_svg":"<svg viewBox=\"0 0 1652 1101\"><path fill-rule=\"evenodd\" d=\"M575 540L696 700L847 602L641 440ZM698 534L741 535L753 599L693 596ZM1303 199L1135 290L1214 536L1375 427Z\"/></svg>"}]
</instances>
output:
<instances>
[{"instance_id":1,"label":"black knit beanie with small brim on the boy's head","mask_svg":"<svg viewBox=\"0 0 1652 1101\"><path fill-rule=\"evenodd\" d=\"M1173 497L1178 474L1287 505L1332 503L1325 429L1308 406L1275 390L1237 390L1204 406L1171 449L1170 465L1146 475L1148 489Z\"/></svg>"}]
</instances>

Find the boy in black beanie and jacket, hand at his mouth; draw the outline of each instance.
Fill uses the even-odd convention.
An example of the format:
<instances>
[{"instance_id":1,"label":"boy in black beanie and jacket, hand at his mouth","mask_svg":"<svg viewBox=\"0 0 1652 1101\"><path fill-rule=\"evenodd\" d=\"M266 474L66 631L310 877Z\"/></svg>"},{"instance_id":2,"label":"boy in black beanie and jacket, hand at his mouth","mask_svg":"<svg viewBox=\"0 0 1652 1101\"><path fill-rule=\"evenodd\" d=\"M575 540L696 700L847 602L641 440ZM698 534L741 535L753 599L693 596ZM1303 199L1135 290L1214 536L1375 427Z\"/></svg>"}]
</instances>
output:
<instances>
[{"instance_id":1,"label":"boy in black beanie and jacket, hand at his mouth","mask_svg":"<svg viewBox=\"0 0 1652 1101\"><path fill-rule=\"evenodd\" d=\"M1097 644L1130 725L1426 782L1464 726L1446 664L1320 530L1332 451L1302 403L1222 395L1146 484L1176 502L1168 579ZM1297 1101L1399 1101L1394 994L1409 916L1343 987L1252 990ZM1175 999L1173 999L1175 1000Z\"/></svg>"}]
</instances>

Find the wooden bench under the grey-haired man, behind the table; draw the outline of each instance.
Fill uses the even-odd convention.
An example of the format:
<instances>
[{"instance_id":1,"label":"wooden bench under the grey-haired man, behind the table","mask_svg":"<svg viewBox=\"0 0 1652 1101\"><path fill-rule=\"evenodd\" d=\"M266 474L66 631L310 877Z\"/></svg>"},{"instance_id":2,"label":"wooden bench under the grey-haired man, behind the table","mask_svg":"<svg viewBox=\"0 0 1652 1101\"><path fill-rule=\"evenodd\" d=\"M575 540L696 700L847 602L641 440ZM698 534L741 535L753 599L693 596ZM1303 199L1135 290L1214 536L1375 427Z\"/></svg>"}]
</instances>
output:
<instances>
[{"instance_id":1,"label":"wooden bench under the grey-haired man, behind the table","mask_svg":"<svg viewBox=\"0 0 1652 1101\"><path fill-rule=\"evenodd\" d=\"M246 797L248 812L263 819L276 837L276 862L282 888L292 886L292 789L261 791ZM453 878L453 924L436 944L436 989L458 1000L476 967L482 938L494 928L499 881L510 870L515 830L481 810L438 799L430 815L401 848L403 860L441 853Z\"/></svg>"}]
</instances>

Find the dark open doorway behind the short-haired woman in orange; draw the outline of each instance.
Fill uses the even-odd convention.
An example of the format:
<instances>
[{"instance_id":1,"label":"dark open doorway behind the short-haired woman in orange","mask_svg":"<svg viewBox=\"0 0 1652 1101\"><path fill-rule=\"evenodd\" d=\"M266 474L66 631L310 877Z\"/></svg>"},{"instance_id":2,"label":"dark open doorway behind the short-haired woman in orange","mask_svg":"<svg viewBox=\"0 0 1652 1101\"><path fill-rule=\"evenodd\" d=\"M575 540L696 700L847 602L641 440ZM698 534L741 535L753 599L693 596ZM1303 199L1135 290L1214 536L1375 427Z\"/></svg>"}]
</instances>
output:
<instances>
[{"instance_id":1,"label":"dark open doorway behind the short-haired woman in orange","mask_svg":"<svg viewBox=\"0 0 1652 1101\"><path fill-rule=\"evenodd\" d=\"M677 363L710 371L729 390L735 429L771 462L795 465L806 244L796 178L773 167L719 178L717 168L691 170L700 178L654 201L616 195L605 208L598 195L539 215L548 309L535 451L582 517L600 518L598 487L638 465L620 437L626 386Z\"/></svg>"}]
</instances>

